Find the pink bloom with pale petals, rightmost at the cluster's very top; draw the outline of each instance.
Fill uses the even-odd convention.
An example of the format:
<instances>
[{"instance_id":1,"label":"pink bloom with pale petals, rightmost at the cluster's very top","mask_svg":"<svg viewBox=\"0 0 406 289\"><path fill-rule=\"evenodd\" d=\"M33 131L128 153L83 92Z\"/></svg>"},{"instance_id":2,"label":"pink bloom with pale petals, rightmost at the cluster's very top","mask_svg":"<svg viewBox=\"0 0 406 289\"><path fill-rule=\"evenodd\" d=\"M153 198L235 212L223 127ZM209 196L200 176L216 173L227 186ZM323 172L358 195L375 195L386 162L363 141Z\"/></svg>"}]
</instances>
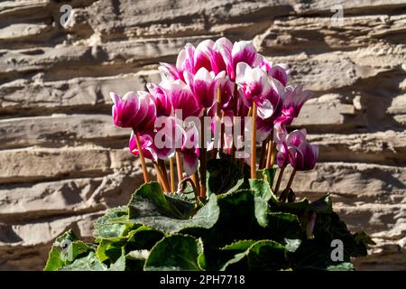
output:
<instances>
[{"instance_id":1,"label":"pink bloom with pale petals, rightmost at the cluster's very top","mask_svg":"<svg viewBox=\"0 0 406 289\"><path fill-rule=\"evenodd\" d=\"M255 67L261 63L263 56L257 53L253 42L235 42L233 48L228 45L223 46L220 51L226 63L228 77L235 81L236 67L238 63L244 62L249 67Z\"/></svg>"}]
</instances>

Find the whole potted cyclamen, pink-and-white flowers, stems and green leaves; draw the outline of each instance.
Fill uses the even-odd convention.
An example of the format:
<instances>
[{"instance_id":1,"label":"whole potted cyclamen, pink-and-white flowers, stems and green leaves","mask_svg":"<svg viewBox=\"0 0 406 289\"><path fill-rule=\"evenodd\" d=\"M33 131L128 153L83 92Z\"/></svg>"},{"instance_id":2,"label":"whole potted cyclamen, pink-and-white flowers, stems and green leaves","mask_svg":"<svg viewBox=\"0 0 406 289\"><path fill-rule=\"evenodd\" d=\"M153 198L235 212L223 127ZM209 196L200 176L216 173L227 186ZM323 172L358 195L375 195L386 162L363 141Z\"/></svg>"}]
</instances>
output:
<instances>
[{"instance_id":1,"label":"whole potted cyclamen, pink-and-white flowers, stems and green leaves","mask_svg":"<svg viewBox=\"0 0 406 289\"><path fill-rule=\"evenodd\" d=\"M291 190L297 171L315 167L318 146L305 129L288 132L310 91L288 85L287 66L252 42L220 38L186 44L159 70L148 91L110 94L115 126L132 128L144 184L97 219L96 244L71 231L58 238L45 270L354 269L350 257L372 240L348 231L328 194L295 201ZM338 261L336 239L346 247Z\"/></svg>"}]
</instances>

